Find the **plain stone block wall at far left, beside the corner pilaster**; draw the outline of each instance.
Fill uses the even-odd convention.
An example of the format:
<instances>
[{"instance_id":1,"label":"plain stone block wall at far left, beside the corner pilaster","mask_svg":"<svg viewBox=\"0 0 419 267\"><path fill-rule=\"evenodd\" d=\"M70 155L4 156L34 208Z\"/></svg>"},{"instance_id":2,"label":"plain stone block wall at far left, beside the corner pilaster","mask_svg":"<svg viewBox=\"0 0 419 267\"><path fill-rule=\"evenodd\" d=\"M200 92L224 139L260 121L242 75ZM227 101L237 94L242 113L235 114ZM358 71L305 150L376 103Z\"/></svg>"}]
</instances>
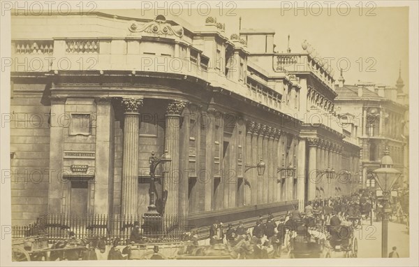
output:
<instances>
[{"instance_id":1,"label":"plain stone block wall at far left, beside the corner pilaster","mask_svg":"<svg viewBox=\"0 0 419 267\"><path fill-rule=\"evenodd\" d=\"M10 101L10 167L12 224L34 222L47 212L50 164L50 106L45 84L12 82Z\"/></svg>"}]
</instances>

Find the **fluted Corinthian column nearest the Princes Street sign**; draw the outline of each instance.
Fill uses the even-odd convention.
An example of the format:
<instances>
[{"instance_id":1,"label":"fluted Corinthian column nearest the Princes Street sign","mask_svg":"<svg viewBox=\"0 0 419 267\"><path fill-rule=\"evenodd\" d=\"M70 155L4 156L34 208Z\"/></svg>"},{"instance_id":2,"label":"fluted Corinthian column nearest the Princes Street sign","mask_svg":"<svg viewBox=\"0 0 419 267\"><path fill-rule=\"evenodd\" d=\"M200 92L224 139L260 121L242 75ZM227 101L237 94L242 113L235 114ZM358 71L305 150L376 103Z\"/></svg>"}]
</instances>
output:
<instances>
[{"instance_id":1,"label":"fluted Corinthian column nearest the Princes Street sign","mask_svg":"<svg viewBox=\"0 0 419 267\"><path fill-rule=\"evenodd\" d=\"M122 215L137 214L138 203L138 131L142 99L124 98L124 147L122 156Z\"/></svg>"}]
</instances>

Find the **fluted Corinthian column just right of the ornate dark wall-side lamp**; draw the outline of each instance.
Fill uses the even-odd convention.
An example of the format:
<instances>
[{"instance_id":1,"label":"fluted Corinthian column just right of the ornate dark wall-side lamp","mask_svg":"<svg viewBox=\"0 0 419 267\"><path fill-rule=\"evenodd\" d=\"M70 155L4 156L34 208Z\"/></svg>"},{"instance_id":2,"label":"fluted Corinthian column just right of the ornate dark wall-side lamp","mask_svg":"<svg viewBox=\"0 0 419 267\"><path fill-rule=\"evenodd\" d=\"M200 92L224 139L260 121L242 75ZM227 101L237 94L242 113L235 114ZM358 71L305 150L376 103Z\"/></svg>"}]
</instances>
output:
<instances>
[{"instance_id":1,"label":"fluted Corinthian column just right of the ornate dark wall-side lamp","mask_svg":"<svg viewBox=\"0 0 419 267\"><path fill-rule=\"evenodd\" d=\"M180 116L186 106L186 101L170 101L166 110L166 129L164 134L164 148L172 157L171 170L163 178L163 189L167 190L166 208L164 212L169 215L177 215L179 205L179 130Z\"/></svg>"}]
</instances>

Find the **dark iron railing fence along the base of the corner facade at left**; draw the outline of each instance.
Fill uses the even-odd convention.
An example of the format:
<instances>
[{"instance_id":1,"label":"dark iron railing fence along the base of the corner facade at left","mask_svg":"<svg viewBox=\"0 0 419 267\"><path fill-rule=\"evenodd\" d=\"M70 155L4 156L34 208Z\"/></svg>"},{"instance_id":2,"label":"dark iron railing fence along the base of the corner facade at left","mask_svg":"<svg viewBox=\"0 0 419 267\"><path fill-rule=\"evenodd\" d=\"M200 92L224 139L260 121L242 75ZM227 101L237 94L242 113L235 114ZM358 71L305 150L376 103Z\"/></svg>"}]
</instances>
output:
<instances>
[{"instance_id":1,"label":"dark iron railing fence along the base of the corner facade at left","mask_svg":"<svg viewBox=\"0 0 419 267\"><path fill-rule=\"evenodd\" d=\"M128 242L134 223L140 225L145 243L182 240L189 231L187 215L43 214L34 224L12 226L12 238L47 236L50 243L67 238L103 238L111 244L117 238Z\"/></svg>"}]
</instances>

